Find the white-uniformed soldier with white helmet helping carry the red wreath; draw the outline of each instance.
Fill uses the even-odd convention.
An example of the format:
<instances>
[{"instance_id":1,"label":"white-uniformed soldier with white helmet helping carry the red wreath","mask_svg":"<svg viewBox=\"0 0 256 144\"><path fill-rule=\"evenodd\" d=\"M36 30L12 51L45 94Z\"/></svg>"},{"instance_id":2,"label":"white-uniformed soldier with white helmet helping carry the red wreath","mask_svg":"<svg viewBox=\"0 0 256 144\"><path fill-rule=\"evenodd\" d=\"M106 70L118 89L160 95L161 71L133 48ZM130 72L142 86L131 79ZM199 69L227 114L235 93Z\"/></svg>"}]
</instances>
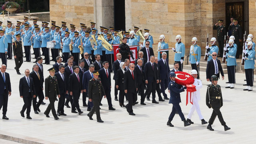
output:
<instances>
[{"instance_id":1,"label":"white-uniformed soldier with white helmet helping carry the red wreath","mask_svg":"<svg viewBox=\"0 0 256 144\"><path fill-rule=\"evenodd\" d=\"M196 92L193 92L193 105L190 108L190 111L188 113L187 122L190 124L194 124L194 122L191 121L192 114L196 110L197 115L199 116L199 119L201 120L202 124L207 124L207 122L204 120L204 117L202 116L198 101L201 100L200 98L200 89L203 87L202 80L197 79L197 71L195 69L191 70L191 75L194 78L194 85L196 86Z\"/></svg>"}]
</instances>

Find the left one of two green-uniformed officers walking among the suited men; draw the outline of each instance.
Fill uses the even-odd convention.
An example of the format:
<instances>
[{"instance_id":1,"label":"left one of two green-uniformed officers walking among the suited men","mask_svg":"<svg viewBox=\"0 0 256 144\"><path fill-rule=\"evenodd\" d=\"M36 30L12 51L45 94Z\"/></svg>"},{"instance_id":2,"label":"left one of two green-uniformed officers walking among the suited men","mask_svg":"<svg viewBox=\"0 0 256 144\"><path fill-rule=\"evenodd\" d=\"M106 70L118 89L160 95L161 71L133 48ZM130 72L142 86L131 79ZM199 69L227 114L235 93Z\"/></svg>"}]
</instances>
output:
<instances>
[{"instance_id":1,"label":"left one of two green-uniformed officers walking among the suited men","mask_svg":"<svg viewBox=\"0 0 256 144\"><path fill-rule=\"evenodd\" d=\"M54 116L54 119L58 120L59 117L56 114L56 110L54 108L54 102L55 102L57 95L60 98L59 85L58 85L57 77L54 76L54 74L55 74L54 68L52 67L52 68L48 69L48 71L50 73L50 76L45 78L44 93L45 93L45 100L48 100L48 98L49 98L50 104L44 111L44 115L46 117L50 117L49 113L52 110L52 115Z\"/></svg>"}]
</instances>

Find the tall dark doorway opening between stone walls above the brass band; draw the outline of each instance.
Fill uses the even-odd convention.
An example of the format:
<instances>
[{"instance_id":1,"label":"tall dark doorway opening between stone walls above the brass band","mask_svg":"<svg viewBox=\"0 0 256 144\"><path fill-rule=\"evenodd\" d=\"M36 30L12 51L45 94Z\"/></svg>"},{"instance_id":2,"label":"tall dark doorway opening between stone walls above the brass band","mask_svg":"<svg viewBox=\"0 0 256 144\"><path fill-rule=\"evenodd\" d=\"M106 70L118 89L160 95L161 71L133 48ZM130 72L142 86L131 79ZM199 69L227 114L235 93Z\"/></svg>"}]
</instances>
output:
<instances>
[{"instance_id":1,"label":"tall dark doorway opening between stone walls above the brass band","mask_svg":"<svg viewBox=\"0 0 256 144\"><path fill-rule=\"evenodd\" d=\"M114 27L116 30L125 29L125 0L114 0Z\"/></svg>"}]
</instances>

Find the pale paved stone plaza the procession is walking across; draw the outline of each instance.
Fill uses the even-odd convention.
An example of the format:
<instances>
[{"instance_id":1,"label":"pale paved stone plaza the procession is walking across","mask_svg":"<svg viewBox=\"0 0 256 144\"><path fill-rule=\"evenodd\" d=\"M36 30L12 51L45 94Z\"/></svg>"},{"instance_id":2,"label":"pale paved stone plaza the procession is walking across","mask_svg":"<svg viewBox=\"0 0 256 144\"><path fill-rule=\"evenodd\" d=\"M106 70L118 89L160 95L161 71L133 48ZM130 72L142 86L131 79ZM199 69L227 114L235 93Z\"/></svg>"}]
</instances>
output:
<instances>
[{"instance_id":1,"label":"pale paved stone plaza the procession is walking across","mask_svg":"<svg viewBox=\"0 0 256 144\"><path fill-rule=\"evenodd\" d=\"M34 60L31 60L34 61ZM23 106L23 100L19 95L19 80L24 76L26 68L32 70L32 62L24 62L20 68L21 75L17 75L14 70L14 60L8 60L6 72L11 76L12 95L9 97L8 110L6 116L9 120L2 119L2 110L0 114L0 142L9 143L4 139L14 140L22 143L254 143L255 137L255 100L256 88L254 91L247 92L244 89L244 73L236 73L235 89L225 89L228 75L225 79L219 80L223 94L223 107L221 112L227 125L231 128L224 131L218 118L212 125L214 131L206 129L207 124L202 125L199 117L194 112L192 121L195 124L184 127L183 122L178 115L175 115L172 124L174 127L166 125L171 112L172 104L168 100L159 104L152 104L151 101L145 101L147 105L133 106L136 116L128 115L125 108L121 108L119 103L114 100L114 81L112 80L112 104L115 111L108 110L106 99L102 100L100 114L104 123L89 120L87 116L87 107L82 107L82 99L79 100L80 108L84 113L82 115L71 113L71 108L64 108L67 116L59 116L59 120L54 120L50 112L50 118L45 117L44 110L49 104L49 100L44 100L46 105L41 105L41 112L34 114L31 108L32 120L22 118L20 110ZM46 71L50 65L44 65L44 77L49 76ZM184 70L188 72L188 70ZM209 120L212 109L205 105L205 93L207 81L205 72L201 71L200 76L203 82L201 89L200 108L204 119ZM111 73L113 77L113 73ZM255 83L254 83L255 84ZM166 92L168 92L166 90ZM168 94L169 96L169 94ZM82 96L81 96L82 97ZM191 104L186 106L186 92L181 93L181 109L187 118ZM88 99L88 98L87 98ZM150 99L152 99L150 97ZM158 100L158 99L156 99ZM138 96L140 102L140 96ZM128 101L125 102L125 104ZM57 108L58 101L55 102Z\"/></svg>"}]
</instances>

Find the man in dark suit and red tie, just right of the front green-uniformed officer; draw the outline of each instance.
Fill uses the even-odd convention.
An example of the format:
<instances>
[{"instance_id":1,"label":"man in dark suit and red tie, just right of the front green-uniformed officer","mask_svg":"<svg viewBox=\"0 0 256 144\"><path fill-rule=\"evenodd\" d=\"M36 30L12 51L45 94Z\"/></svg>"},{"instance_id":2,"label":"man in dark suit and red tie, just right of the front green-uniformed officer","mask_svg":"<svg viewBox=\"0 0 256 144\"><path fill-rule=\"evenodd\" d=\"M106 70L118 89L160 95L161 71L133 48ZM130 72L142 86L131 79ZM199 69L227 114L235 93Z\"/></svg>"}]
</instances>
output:
<instances>
[{"instance_id":1,"label":"man in dark suit and red tie, just right of the front green-uniformed officer","mask_svg":"<svg viewBox=\"0 0 256 144\"><path fill-rule=\"evenodd\" d=\"M95 66L95 65L94 65ZM109 110L116 110L116 108L113 108L112 106L112 102L111 102L111 76L110 76L110 69L108 69L108 61L104 61L103 62L103 68L101 68L99 70L99 77L101 79L104 91L106 93L107 96L107 100L108 100L108 109ZM101 97L102 99L102 97Z\"/></svg>"}]
</instances>

